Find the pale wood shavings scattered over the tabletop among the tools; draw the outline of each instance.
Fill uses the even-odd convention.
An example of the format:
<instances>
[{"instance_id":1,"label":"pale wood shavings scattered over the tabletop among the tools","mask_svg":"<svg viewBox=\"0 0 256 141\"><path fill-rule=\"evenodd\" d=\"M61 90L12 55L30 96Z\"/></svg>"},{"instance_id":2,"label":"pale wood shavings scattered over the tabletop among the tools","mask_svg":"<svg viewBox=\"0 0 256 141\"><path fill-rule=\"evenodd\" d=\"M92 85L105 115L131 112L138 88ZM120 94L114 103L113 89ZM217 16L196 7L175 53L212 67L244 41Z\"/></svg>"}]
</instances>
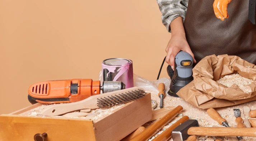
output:
<instances>
[{"instance_id":1,"label":"pale wood shavings scattered over the tabletop among the tools","mask_svg":"<svg viewBox=\"0 0 256 141\"><path fill-rule=\"evenodd\" d=\"M149 93L150 93L150 91L149 91ZM156 100L158 104L160 102L158 93L151 92L151 99ZM206 113L207 109L197 108L197 107L187 103L182 98L170 97L168 95L166 95L166 97L164 97L163 107L168 107L168 106L176 107L178 105L181 105L184 108L184 110L182 112L183 115L188 116L190 119L197 119L199 126L202 126L202 127L211 127L212 125L220 126L218 122L214 121L213 119L210 118L210 116L208 116L208 114ZM223 107L223 108L215 108L215 109L220 114L220 116L222 116L223 118L225 118L227 120L229 126L234 127L234 126L236 126L236 122L235 122L236 117L234 116L233 109L240 109L240 111L243 111L243 106L248 106L251 109L256 109L256 100L252 101L252 102L239 104L239 105ZM156 109L159 109L159 107L157 107ZM181 118L181 117L176 117L172 121L176 121L179 118ZM156 122L158 120L159 119L157 119L155 121L148 122L148 123L144 124L143 126L145 128L147 128L151 124L153 124L154 122ZM162 131L162 130L160 130L160 131ZM162 133L162 132L159 132L159 133ZM158 135L154 135L152 138L150 138L149 141L153 140L153 138L155 138L155 136L158 136ZM210 136L206 136L206 137L202 137L202 138L204 138L203 140L205 140L205 141L214 141L215 140L213 137L210 137ZM219 138L221 138L223 141L229 141L227 139L227 137L219 137ZM172 138L170 138L168 141L173 141L173 140L172 140ZM239 141L256 141L256 138L255 137L243 137L243 139L239 140Z\"/></svg>"}]
</instances>

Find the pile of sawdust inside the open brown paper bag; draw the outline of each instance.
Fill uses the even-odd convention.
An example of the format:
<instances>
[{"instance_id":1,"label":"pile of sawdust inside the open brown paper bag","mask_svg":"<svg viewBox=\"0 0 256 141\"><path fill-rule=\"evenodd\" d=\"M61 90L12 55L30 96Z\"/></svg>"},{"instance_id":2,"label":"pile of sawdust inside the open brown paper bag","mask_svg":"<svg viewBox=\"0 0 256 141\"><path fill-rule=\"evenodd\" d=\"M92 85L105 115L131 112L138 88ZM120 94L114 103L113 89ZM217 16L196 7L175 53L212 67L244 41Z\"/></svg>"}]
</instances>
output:
<instances>
[{"instance_id":1,"label":"pile of sawdust inside the open brown paper bag","mask_svg":"<svg viewBox=\"0 0 256 141\"><path fill-rule=\"evenodd\" d=\"M245 93L252 92L251 89L245 88L245 85L250 85L252 84L252 82L253 82L252 79L242 77L239 74L226 75L223 78L220 78L219 80L217 80L217 83L225 85L227 87L231 87L232 85L236 84Z\"/></svg>"}]
</instances>

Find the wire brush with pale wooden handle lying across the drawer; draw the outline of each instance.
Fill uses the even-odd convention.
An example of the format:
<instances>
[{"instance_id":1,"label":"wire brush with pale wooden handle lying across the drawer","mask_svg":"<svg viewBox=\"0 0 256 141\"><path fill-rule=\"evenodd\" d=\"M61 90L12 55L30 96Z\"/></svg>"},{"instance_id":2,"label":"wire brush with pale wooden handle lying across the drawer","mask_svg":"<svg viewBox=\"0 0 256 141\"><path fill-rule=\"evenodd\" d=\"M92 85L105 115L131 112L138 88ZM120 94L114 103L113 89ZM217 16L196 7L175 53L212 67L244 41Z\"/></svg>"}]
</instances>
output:
<instances>
[{"instance_id":1,"label":"wire brush with pale wooden handle lying across the drawer","mask_svg":"<svg viewBox=\"0 0 256 141\"><path fill-rule=\"evenodd\" d=\"M79 102L56 104L40 112L43 116L57 116L64 113L80 109L96 109L112 107L116 104L127 103L132 100L138 100L147 95L139 87L128 88L124 90L112 91L110 93L93 95Z\"/></svg>"}]
</instances>

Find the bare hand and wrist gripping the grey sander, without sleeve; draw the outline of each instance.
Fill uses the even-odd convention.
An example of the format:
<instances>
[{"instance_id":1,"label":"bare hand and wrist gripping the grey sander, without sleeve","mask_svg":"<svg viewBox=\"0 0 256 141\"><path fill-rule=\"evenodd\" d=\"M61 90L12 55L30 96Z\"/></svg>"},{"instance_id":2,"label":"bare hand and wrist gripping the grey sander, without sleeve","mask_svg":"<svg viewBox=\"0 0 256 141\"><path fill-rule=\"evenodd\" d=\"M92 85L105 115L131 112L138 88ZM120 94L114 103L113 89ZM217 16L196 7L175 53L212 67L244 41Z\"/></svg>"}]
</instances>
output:
<instances>
[{"instance_id":1,"label":"bare hand and wrist gripping the grey sander, without sleeve","mask_svg":"<svg viewBox=\"0 0 256 141\"><path fill-rule=\"evenodd\" d=\"M170 24L171 30L172 30L172 37L170 41L167 44L166 47L166 62L169 64L172 69L174 70L174 59L175 56L180 52L180 51L185 51L189 53L193 59L194 63L196 63L196 60L194 58L194 54L192 53L187 40L186 40L186 35L185 35L185 30L183 27L183 20L182 17L177 17L172 21Z\"/></svg>"}]
</instances>

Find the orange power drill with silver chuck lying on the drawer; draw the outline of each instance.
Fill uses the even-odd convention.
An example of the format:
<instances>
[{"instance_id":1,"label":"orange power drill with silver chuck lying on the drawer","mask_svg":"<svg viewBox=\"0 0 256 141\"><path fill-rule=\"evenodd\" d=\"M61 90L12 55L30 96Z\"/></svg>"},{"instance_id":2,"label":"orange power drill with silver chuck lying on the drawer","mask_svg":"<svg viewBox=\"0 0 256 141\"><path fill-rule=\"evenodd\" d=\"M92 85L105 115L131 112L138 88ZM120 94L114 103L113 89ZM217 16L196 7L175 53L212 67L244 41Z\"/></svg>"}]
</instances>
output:
<instances>
[{"instance_id":1,"label":"orange power drill with silver chuck lying on the drawer","mask_svg":"<svg viewBox=\"0 0 256 141\"><path fill-rule=\"evenodd\" d=\"M44 104L71 103L86 99L92 95L125 89L120 81L100 81L92 79L70 79L44 81L31 85L28 89L30 103Z\"/></svg>"}]
</instances>

